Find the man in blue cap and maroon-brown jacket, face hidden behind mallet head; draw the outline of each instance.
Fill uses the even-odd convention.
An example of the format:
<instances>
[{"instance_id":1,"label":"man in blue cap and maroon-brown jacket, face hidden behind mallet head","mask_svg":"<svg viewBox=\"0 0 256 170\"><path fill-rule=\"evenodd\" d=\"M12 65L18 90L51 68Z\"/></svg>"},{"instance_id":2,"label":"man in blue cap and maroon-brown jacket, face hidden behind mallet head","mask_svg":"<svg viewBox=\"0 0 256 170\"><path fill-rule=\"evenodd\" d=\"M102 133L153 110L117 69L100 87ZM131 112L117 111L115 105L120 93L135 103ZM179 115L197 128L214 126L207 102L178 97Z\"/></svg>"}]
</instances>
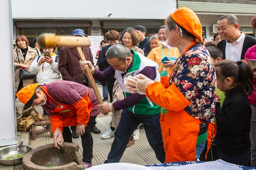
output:
<instances>
[{"instance_id":1,"label":"man in blue cap and maroon-brown jacket, face hidden behind mallet head","mask_svg":"<svg viewBox=\"0 0 256 170\"><path fill-rule=\"evenodd\" d=\"M81 36L84 37L84 31L81 29L76 29L73 31L72 36ZM93 62L93 54L89 47L82 47L82 51L84 53L84 57L86 60ZM76 51L76 48L63 47L59 52L58 57L58 70L61 72L63 80L68 80L72 82L78 82L82 85L90 87L90 82L87 77L81 71L81 66L79 64L80 57ZM93 122L91 127L91 132L100 133L100 130L96 127L96 121ZM72 137L79 138L76 134L76 126L71 126Z\"/></svg>"}]
</instances>

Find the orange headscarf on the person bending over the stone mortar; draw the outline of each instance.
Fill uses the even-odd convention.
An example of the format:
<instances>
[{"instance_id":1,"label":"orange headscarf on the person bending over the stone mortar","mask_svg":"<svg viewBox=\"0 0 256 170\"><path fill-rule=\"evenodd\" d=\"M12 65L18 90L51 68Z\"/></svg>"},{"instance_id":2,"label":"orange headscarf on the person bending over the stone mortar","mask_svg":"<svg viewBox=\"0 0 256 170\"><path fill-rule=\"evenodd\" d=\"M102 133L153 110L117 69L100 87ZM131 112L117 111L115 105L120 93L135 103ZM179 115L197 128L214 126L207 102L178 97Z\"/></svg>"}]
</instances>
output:
<instances>
[{"instance_id":1,"label":"orange headscarf on the person bending over the stone mortar","mask_svg":"<svg viewBox=\"0 0 256 170\"><path fill-rule=\"evenodd\" d=\"M27 85L26 87L18 91L16 96L20 100L20 102L26 105L26 103L31 99L31 97L35 93L35 89L38 87L38 85L38 83Z\"/></svg>"}]
</instances>

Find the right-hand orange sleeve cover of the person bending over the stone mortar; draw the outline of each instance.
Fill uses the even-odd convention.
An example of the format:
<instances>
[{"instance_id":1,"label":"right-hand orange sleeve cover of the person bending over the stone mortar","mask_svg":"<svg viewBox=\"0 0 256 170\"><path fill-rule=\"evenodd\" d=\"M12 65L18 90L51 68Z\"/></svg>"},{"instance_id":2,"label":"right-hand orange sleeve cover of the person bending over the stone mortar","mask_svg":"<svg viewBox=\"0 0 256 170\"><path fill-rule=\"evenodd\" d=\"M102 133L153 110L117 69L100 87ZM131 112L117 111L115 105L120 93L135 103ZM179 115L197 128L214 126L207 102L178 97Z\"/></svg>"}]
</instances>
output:
<instances>
[{"instance_id":1,"label":"right-hand orange sleeve cover of the person bending over the stone mortar","mask_svg":"<svg viewBox=\"0 0 256 170\"><path fill-rule=\"evenodd\" d=\"M77 123L79 125L85 124L85 126L87 126L87 123L90 119L91 110L88 109L86 100L82 98L77 101L73 106L76 108Z\"/></svg>"}]
</instances>

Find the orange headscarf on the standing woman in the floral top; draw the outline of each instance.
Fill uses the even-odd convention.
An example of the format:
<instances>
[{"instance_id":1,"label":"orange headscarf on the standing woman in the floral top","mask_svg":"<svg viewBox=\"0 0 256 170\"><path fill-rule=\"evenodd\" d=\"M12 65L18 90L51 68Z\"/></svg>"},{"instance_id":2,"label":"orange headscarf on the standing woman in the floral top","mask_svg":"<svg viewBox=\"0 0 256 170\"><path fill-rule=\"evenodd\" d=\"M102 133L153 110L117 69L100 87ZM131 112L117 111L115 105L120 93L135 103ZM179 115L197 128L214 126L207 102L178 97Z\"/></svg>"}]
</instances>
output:
<instances>
[{"instance_id":1,"label":"orange headscarf on the standing woman in the floral top","mask_svg":"<svg viewBox=\"0 0 256 170\"><path fill-rule=\"evenodd\" d=\"M203 42L202 26L194 11L188 7L180 7L170 15L177 24L194 35L198 42Z\"/></svg>"}]
</instances>

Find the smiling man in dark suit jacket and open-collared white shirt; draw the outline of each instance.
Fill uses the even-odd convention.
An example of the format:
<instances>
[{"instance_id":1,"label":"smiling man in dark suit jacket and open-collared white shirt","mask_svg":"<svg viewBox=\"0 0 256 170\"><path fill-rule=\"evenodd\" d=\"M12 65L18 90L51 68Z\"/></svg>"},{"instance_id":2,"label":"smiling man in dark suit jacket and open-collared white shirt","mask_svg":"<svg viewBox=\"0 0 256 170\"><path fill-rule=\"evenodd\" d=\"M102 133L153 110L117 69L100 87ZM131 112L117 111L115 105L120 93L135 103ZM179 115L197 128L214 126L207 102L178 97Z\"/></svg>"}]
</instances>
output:
<instances>
[{"instance_id":1,"label":"smiling man in dark suit jacket and open-collared white shirt","mask_svg":"<svg viewBox=\"0 0 256 170\"><path fill-rule=\"evenodd\" d=\"M218 34L224 38L217 47L223 54L223 59L239 61L244 59L247 49L256 44L256 38L240 32L239 20L235 15L226 14L217 23Z\"/></svg>"}]
</instances>

